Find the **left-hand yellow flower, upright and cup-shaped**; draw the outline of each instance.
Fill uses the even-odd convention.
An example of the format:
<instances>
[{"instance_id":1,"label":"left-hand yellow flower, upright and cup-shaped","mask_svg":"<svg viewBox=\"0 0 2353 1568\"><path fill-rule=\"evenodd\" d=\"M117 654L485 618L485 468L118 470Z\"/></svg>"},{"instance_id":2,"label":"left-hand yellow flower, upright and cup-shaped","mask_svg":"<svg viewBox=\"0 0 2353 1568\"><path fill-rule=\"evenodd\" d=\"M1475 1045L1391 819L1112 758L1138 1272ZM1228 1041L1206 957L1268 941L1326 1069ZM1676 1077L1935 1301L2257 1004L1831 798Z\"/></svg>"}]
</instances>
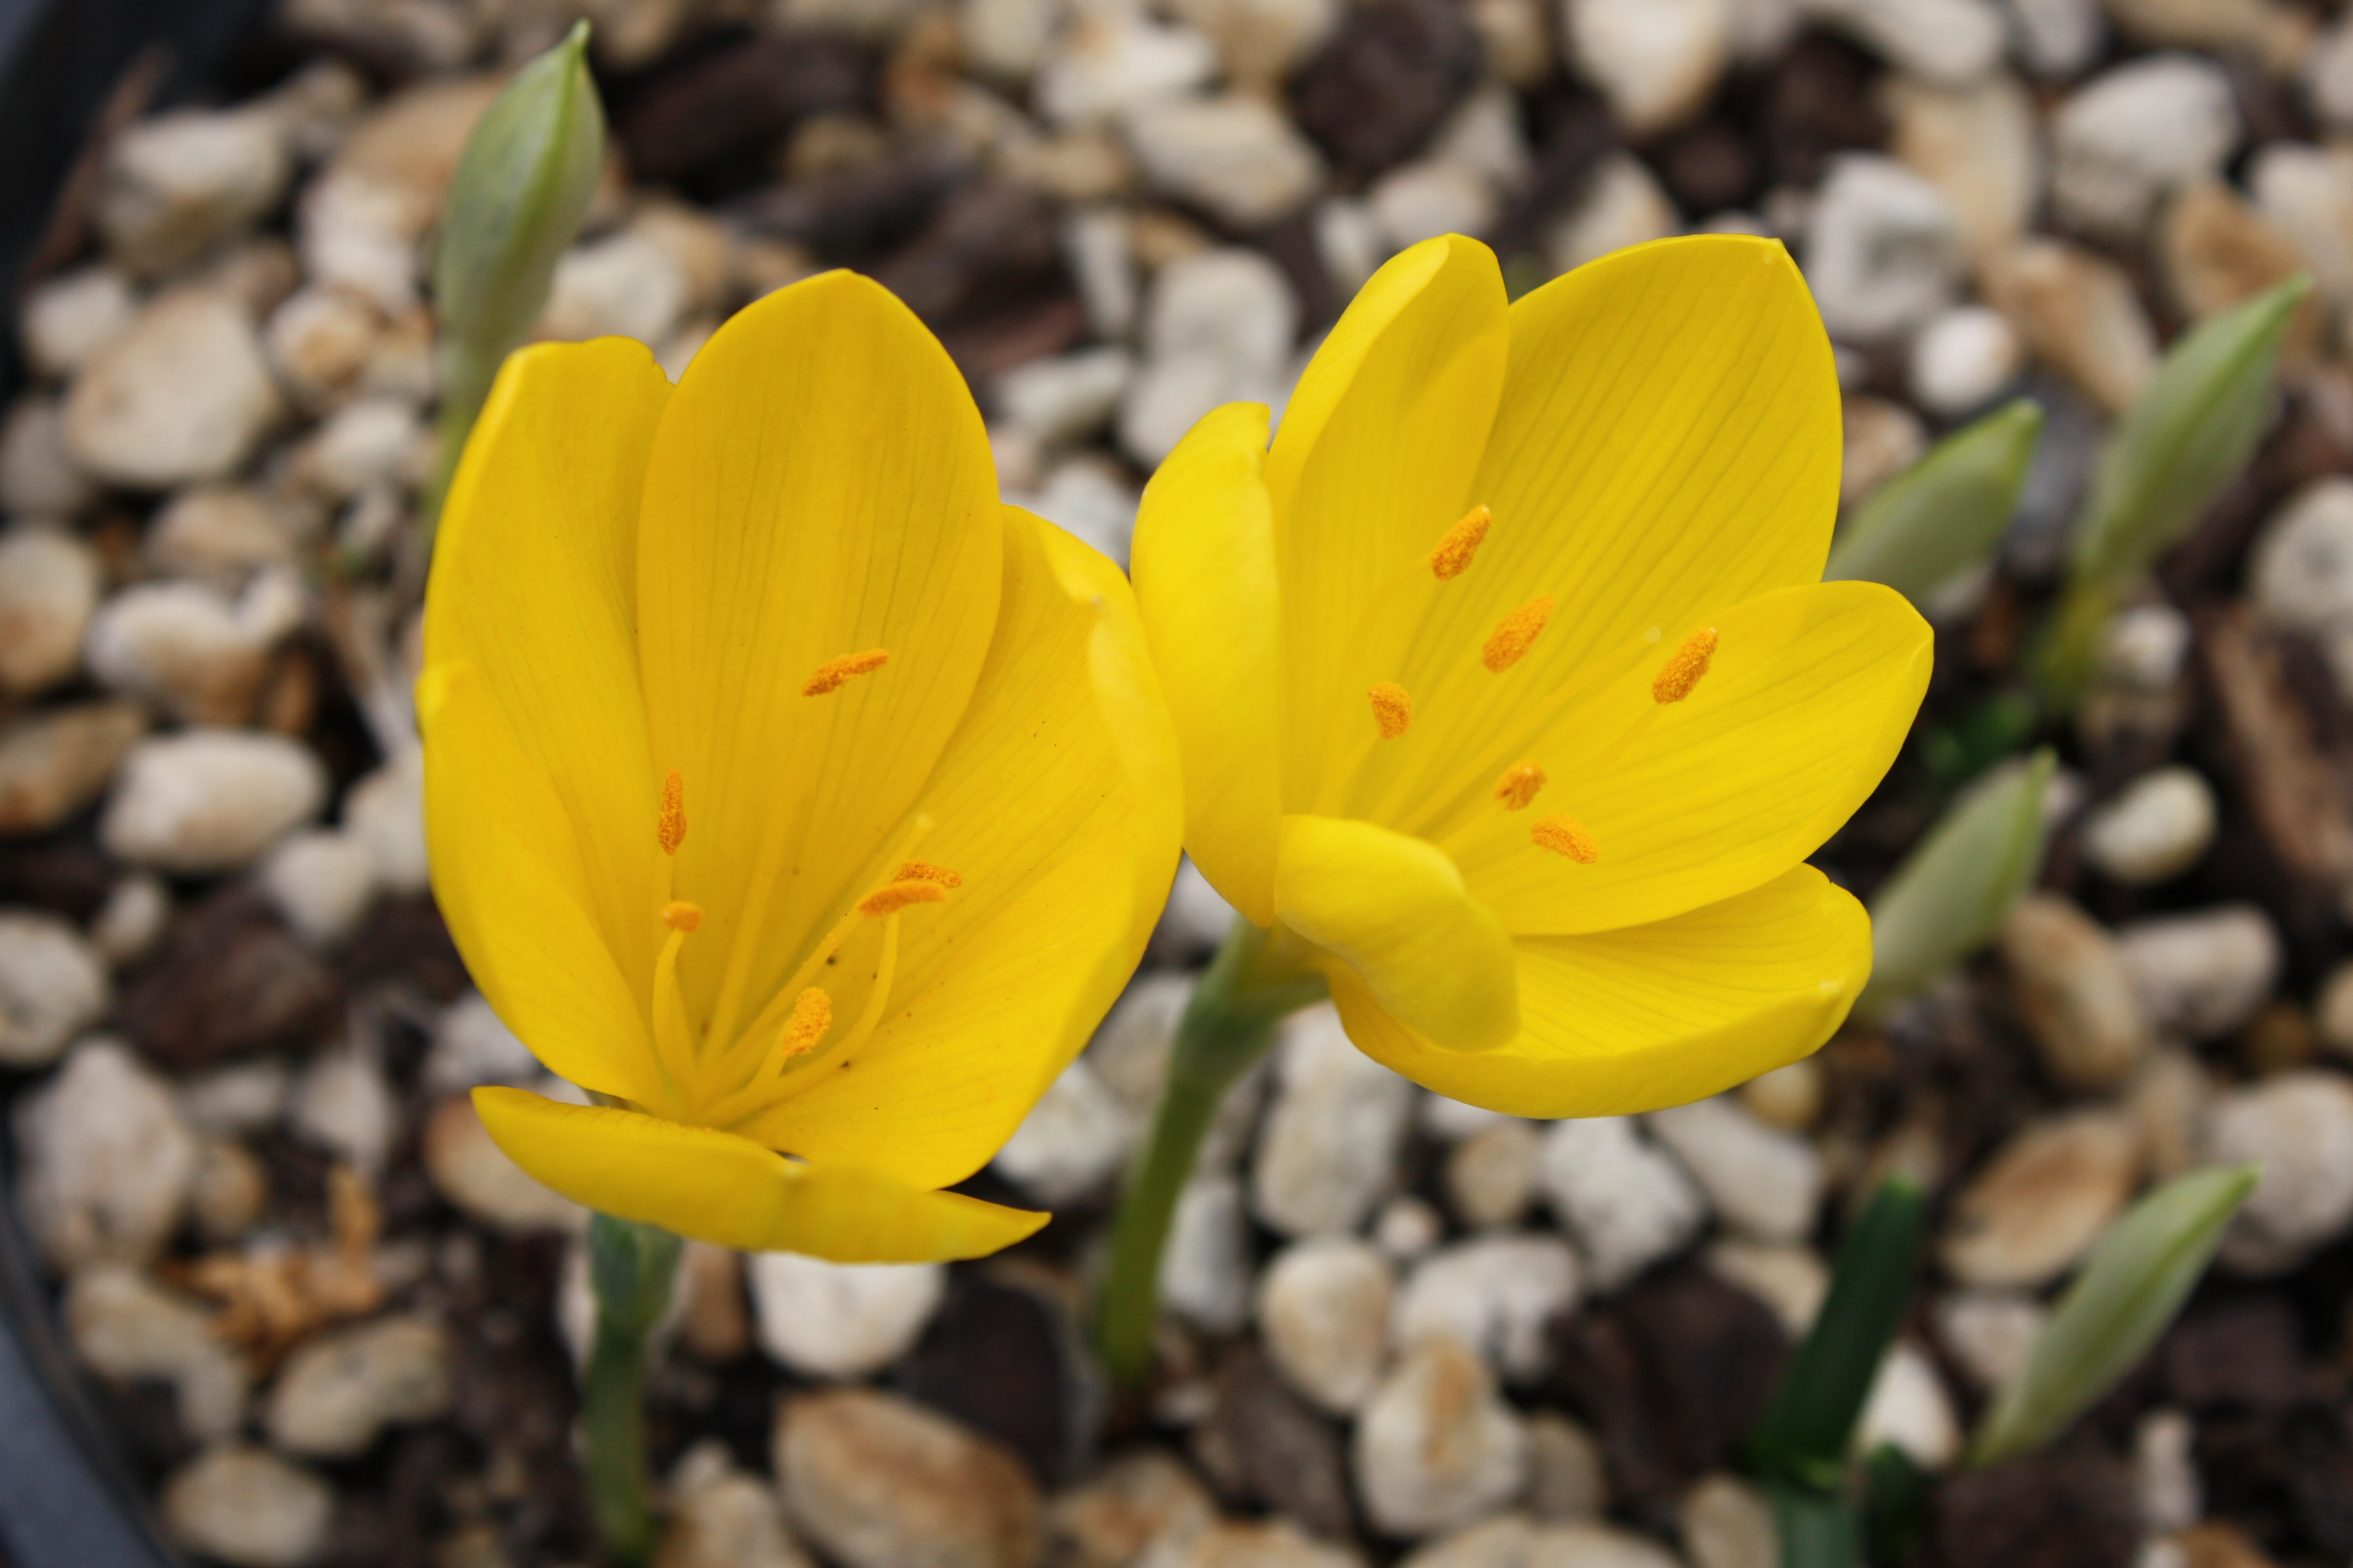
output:
<instances>
[{"instance_id":1,"label":"left-hand yellow flower, upright and cup-shaped","mask_svg":"<svg viewBox=\"0 0 2353 1568\"><path fill-rule=\"evenodd\" d=\"M433 889L489 1004L607 1103L482 1088L588 1208L969 1258L976 1171L1144 952L1174 736L1118 569L998 503L932 334L831 273L673 390L515 355L426 597Z\"/></svg>"}]
</instances>

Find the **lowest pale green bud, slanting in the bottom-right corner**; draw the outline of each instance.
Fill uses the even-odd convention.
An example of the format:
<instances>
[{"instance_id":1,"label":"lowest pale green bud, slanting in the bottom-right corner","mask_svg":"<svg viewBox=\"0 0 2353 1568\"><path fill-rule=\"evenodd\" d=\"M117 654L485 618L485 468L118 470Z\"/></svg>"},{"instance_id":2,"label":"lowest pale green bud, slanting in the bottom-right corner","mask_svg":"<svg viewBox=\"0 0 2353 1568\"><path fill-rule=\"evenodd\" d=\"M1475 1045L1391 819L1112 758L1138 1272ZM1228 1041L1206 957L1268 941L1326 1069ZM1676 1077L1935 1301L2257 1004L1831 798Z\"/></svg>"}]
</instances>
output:
<instances>
[{"instance_id":1,"label":"lowest pale green bud, slanting in the bottom-right corner","mask_svg":"<svg viewBox=\"0 0 2353 1568\"><path fill-rule=\"evenodd\" d=\"M2042 1448L2115 1387L2174 1321L2257 1180L2254 1164L2191 1171L2111 1225L1979 1425L1969 1462Z\"/></svg>"}]
</instances>

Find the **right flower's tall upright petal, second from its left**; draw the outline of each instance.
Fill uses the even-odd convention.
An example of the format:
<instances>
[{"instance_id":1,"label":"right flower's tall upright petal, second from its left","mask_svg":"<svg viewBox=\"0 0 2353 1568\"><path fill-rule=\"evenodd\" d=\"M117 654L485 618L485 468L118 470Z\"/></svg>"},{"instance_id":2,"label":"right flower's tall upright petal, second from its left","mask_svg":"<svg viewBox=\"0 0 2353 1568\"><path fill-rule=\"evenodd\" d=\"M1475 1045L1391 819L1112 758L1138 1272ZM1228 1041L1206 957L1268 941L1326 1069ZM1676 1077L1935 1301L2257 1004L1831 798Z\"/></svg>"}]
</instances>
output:
<instances>
[{"instance_id":1,"label":"right flower's tall upright petal, second from its left","mask_svg":"<svg viewBox=\"0 0 2353 1568\"><path fill-rule=\"evenodd\" d=\"M1424 240L1358 292L1282 411L1266 491L1282 578L1289 811L1320 809L1332 752L1358 738L1365 686L1395 675L1417 609L1461 585L1440 588L1428 555L1487 498L1473 475L1506 350L1494 252L1461 235ZM1475 562L1464 581L1482 571Z\"/></svg>"}]
</instances>

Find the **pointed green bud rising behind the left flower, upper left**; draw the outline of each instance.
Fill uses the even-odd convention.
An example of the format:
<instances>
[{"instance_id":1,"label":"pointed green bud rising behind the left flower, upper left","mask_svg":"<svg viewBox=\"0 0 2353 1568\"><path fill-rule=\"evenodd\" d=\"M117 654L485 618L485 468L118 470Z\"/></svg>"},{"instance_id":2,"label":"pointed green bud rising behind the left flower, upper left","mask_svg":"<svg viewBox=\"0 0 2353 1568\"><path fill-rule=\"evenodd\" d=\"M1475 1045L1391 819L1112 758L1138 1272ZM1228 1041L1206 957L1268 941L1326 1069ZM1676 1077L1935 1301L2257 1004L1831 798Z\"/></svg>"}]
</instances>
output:
<instances>
[{"instance_id":1,"label":"pointed green bud rising behind the left flower, upper left","mask_svg":"<svg viewBox=\"0 0 2353 1568\"><path fill-rule=\"evenodd\" d=\"M605 167L605 106L588 24L529 61L482 110L456 160L433 252L440 329L440 477L473 430L506 355L539 320L555 261L579 237Z\"/></svg>"}]
</instances>

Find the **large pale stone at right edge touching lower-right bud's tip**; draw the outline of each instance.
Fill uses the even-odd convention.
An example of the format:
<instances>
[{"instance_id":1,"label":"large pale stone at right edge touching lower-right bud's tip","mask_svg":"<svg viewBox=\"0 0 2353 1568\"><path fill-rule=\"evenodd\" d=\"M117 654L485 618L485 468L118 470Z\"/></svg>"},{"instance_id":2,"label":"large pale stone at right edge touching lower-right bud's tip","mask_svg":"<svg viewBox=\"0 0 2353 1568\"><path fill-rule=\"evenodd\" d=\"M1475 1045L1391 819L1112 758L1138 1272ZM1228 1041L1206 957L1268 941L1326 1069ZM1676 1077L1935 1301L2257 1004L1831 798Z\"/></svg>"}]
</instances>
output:
<instances>
[{"instance_id":1,"label":"large pale stone at right edge touching lower-right bud's tip","mask_svg":"<svg viewBox=\"0 0 2353 1568\"><path fill-rule=\"evenodd\" d=\"M2353 1222L2353 1084L2306 1070L2233 1088L2207 1110L2200 1154L2261 1166L2221 1258L2242 1274L2285 1274Z\"/></svg>"}]
</instances>

